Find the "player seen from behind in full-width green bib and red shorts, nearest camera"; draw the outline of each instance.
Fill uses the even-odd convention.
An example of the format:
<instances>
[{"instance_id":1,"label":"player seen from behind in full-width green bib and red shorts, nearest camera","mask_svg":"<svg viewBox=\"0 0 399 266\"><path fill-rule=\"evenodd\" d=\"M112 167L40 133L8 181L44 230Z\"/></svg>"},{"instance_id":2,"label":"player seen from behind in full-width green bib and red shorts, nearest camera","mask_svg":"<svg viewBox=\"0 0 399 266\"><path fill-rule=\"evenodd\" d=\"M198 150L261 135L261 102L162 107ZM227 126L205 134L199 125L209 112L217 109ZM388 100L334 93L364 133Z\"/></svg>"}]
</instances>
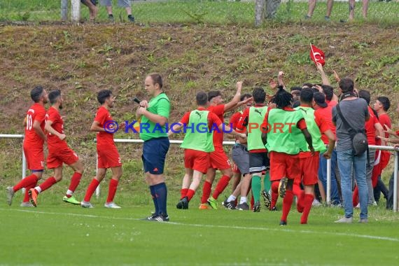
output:
<instances>
[{"instance_id":1,"label":"player seen from behind in full-width green bib and red shorts, nearest camera","mask_svg":"<svg viewBox=\"0 0 399 266\"><path fill-rule=\"evenodd\" d=\"M287 216L293 204L294 180L300 179L298 154L307 149L307 146L311 155L314 153L304 116L290 107L292 100L293 96L279 85L273 99L276 109L270 109L262 123L262 141L270 157L270 181L280 181L279 195L283 197L280 225L287 224Z\"/></svg>"}]
</instances>

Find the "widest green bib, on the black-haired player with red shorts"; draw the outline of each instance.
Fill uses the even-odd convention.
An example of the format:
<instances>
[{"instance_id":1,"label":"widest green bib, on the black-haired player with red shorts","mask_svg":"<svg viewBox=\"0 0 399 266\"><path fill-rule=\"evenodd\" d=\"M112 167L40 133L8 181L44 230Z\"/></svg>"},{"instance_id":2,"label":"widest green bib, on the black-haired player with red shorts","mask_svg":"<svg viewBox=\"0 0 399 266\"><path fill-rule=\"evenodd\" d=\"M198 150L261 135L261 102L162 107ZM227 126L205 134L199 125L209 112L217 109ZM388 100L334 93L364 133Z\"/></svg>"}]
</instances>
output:
<instances>
[{"instance_id":1,"label":"widest green bib, on the black-haired player with red shorts","mask_svg":"<svg viewBox=\"0 0 399 266\"><path fill-rule=\"evenodd\" d=\"M300 111L272 109L267 118L267 151L295 155L307 151L307 143L297 123L303 117Z\"/></svg>"}]
</instances>

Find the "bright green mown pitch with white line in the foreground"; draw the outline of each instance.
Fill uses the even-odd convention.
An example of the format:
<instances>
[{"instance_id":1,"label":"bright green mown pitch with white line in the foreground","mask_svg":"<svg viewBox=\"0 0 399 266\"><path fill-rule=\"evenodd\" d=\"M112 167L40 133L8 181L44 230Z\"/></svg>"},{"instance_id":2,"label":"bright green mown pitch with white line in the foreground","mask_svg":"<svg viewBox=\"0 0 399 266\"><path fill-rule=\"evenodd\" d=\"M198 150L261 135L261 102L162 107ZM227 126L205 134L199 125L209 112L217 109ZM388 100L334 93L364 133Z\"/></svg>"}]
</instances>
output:
<instances>
[{"instance_id":1,"label":"bright green mown pitch with white line in the foreground","mask_svg":"<svg viewBox=\"0 0 399 266\"><path fill-rule=\"evenodd\" d=\"M2 190L3 192L4 190ZM144 192L142 192L144 193ZM1 193L3 199L5 194ZM281 211L260 213L178 210L169 195L169 223L141 221L152 204L135 205L117 194L123 209L94 209L59 203L52 190L38 208L0 204L0 265L396 265L398 215L384 207L369 209L369 223L335 224L342 209L311 210L308 225L291 211L288 226ZM279 200L279 204L281 204ZM383 202L381 202L381 205ZM278 205L280 207L280 205ZM281 209L281 208L280 208ZM355 211L355 220L358 211Z\"/></svg>"}]
</instances>

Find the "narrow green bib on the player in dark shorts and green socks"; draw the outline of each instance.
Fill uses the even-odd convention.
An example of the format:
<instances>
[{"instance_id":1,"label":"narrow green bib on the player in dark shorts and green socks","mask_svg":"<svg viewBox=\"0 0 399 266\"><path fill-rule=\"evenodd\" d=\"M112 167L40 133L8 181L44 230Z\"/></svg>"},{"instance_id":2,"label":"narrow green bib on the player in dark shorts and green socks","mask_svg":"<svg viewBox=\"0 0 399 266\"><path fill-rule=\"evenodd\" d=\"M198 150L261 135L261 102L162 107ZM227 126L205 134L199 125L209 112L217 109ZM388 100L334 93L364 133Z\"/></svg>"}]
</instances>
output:
<instances>
[{"instance_id":1,"label":"narrow green bib on the player in dark shorts and green socks","mask_svg":"<svg viewBox=\"0 0 399 266\"><path fill-rule=\"evenodd\" d=\"M267 106L249 108L248 125L246 132L248 132L248 151L259 150L265 148L262 142L262 125L265 115L267 113Z\"/></svg>"}]
</instances>

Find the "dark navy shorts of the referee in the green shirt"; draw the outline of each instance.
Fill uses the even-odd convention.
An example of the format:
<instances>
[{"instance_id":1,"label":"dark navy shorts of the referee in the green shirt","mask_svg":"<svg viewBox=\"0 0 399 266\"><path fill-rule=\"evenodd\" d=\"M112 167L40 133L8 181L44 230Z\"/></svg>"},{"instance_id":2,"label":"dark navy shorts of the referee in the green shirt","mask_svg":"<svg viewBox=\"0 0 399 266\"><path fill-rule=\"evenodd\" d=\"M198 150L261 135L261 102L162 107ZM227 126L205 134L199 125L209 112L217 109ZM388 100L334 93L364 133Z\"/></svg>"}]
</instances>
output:
<instances>
[{"instance_id":1,"label":"dark navy shorts of the referee in the green shirt","mask_svg":"<svg viewBox=\"0 0 399 266\"><path fill-rule=\"evenodd\" d=\"M141 159L143 160L145 173L164 173L165 158L167 151L169 151L169 145L169 138L167 137L144 141L143 155L141 155Z\"/></svg>"}]
</instances>

